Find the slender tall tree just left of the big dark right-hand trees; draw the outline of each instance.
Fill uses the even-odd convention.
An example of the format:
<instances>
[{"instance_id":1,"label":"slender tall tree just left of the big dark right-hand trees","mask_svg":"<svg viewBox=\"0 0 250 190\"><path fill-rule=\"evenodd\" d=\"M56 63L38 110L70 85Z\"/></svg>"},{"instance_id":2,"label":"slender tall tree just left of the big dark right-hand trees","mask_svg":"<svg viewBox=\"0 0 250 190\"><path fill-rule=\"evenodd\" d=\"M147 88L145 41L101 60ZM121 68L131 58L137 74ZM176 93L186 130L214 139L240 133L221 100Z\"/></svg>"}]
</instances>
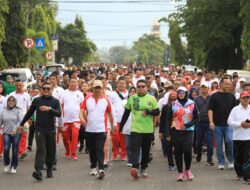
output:
<instances>
[{"instance_id":1,"label":"slender tall tree just left of the big dark right-hand trees","mask_svg":"<svg viewBox=\"0 0 250 190\"><path fill-rule=\"evenodd\" d=\"M168 18L161 18L160 22L166 22L169 24L168 37L170 39L170 55L171 62L177 65L184 65L187 63L185 49L181 41L181 27L177 18L177 14L171 14Z\"/></svg>"}]
</instances>

